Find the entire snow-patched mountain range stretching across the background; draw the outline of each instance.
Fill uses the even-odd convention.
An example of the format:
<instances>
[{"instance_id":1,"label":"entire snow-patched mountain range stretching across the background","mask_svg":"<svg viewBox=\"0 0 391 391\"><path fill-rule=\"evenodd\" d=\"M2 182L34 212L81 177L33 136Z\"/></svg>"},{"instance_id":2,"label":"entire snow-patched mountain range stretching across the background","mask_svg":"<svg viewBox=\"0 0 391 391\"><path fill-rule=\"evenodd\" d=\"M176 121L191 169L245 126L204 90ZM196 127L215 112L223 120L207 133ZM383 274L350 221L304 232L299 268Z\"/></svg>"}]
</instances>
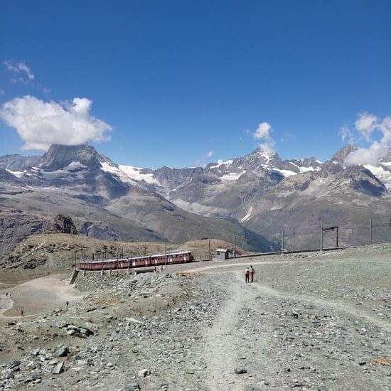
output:
<instances>
[{"instance_id":1,"label":"entire snow-patched mountain range stretching across the background","mask_svg":"<svg viewBox=\"0 0 391 391\"><path fill-rule=\"evenodd\" d=\"M58 213L108 240L184 242L215 237L247 250L278 248L282 227L358 223L390 210L391 152L377 166L282 160L256 149L205 167L115 164L89 145L52 145L43 156L0 156L0 256Z\"/></svg>"}]
</instances>

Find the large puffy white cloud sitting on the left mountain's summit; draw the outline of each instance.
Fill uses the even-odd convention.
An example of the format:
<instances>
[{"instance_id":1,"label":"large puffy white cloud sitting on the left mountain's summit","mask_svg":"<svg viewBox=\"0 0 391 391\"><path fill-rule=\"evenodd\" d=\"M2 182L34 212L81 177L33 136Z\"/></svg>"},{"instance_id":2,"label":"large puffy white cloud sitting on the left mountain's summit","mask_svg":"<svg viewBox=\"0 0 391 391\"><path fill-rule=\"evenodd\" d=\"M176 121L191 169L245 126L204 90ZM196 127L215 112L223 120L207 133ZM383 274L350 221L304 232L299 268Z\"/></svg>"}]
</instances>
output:
<instances>
[{"instance_id":1,"label":"large puffy white cloud sitting on the left mountain's summit","mask_svg":"<svg viewBox=\"0 0 391 391\"><path fill-rule=\"evenodd\" d=\"M77 145L87 141L107 141L112 127L90 115L92 101L73 99L71 103L44 102L26 95L4 103L0 118L16 129L23 149L42 149L50 144Z\"/></svg>"}]
</instances>

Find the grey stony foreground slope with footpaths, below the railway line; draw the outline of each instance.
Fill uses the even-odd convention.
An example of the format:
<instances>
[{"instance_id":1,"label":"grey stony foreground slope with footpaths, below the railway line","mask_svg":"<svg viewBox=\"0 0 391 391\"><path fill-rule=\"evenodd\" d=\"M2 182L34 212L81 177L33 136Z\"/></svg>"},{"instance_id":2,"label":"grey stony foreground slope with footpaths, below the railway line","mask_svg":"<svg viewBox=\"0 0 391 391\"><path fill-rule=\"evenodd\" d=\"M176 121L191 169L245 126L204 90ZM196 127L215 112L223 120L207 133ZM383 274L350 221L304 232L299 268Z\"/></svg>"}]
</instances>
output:
<instances>
[{"instance_id":1,"label":"grey stony foreground slope with footpaths, below the railway line","mask_svg":"<svg viewBox=\"0 0 391 391\"><path fill-rule=\"evenodd\" d=\"M11 299L2 289L1 385L390 390L390 251L377 245L157 274L86 273L76 282L79 296L58 296L35 316L16 311L24 284L7 288ZM255 282L245 284L250 263ZM38 294L45 279L30 291Z\"/></svg>"}]
</instances>

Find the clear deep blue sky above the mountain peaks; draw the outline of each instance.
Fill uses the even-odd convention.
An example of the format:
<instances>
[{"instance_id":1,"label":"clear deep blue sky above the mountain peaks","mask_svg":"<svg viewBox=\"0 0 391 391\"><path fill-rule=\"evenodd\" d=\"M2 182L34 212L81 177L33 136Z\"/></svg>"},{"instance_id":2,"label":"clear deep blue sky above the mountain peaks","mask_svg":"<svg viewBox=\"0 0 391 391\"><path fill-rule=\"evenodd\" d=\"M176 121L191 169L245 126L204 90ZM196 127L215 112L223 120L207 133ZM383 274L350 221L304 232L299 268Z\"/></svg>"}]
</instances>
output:
<instances>
[{"instance_id":1,"label":"clear deep blue sky above the mountain peaks","mask_svg":"<svg viewBox=\"0 0 391 391\"><path fill-rule=\"evenodd\" d=\"M270 141L284 159L326 160L358 114L391 115L390 1L0 6L0 105L18 111L10 126L3 106L0 155L43 153L21 149L53 129L63 140L75 115L74 132L88 124L90 144L121 164L195 166ZM26 95L35 100L16 108ZM27 129L33 110L50 105L66 121L41 125L41 116ZM264 122L269 140L256 139ZM110 140L94 141L102 132Z\"/></svg>"}]
</instances>

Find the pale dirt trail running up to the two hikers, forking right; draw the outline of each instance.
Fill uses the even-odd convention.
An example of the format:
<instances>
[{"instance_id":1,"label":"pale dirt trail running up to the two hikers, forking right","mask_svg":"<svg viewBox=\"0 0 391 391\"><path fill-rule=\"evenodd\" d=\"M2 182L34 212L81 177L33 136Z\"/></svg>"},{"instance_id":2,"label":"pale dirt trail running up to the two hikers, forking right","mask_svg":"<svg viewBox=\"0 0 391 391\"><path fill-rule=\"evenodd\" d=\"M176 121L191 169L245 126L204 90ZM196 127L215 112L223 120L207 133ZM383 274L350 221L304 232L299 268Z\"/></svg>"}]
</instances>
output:
<instances>
[{"instance_id":1,"label":"pale dirt trail running up to the two hikers, forking right","mask_svg":"<svg viewBox=\"0 0 391 391\"><path fill-rule=\"evenodd\" d=\"M252 263L257 264L257 262ZM264 299L269 297L273 303L276 299L287 299L304 306L314 305L318 311L335 311L336 314L347 322L349 322L348 319L350 318L363 324L380 327L385 333L391 332L390 321L375 318L369 311L358 308L353 304L323 297L319 298L318 296L289 294L272 289L260 281L256 281L253 284L245 284L243 281L242 264L231 264L230 266L235 267L235 269L237 269L236 266L240 267L240 270L225 272L227 277L234 275L235 279L230 279L229 296L227 296L218 312L213 327L206 329L203 337L202 357L205 359L208 368L208 380L205 384L208 385L208 390L210 391L249 390L248 384L253 382L251 380L252 370L246 375L237 374L235 370L249 368L249 365L250 368L258 365L257 368L260 370L259 365L262 364L257 363L257 358L255 358L255 361L248 360L249 356L258 356L261 358L261 362L264 363L272 363L275 360L275 338L271 337L277 336L274 335L276 326L272 326L274 323L264 323L262 316L260 316L262 314L259 314L259 309L256 309L258 304L253 308L252 304L255 304L259 297ZM215 267L208 265L203 268L197 268L194 271L203 272L207 270L208 274L223 274L220 265ZM248 319L250 317L253 319L252 324L254 326L261 325L256 329L257 340L254 343L252 342L253 334L251 331L255 329L245 326L247 316ZM262 369L264 373L271 371L268 373L270 377L281 370L278 369L277 364L275 367L269 365L269 367ZM274 379L276 388L284 387L282 379L281 375ZM261 387L260 389L263 389L261 383L258 382L257 384Z\"/></svg>"}]
</instances>

